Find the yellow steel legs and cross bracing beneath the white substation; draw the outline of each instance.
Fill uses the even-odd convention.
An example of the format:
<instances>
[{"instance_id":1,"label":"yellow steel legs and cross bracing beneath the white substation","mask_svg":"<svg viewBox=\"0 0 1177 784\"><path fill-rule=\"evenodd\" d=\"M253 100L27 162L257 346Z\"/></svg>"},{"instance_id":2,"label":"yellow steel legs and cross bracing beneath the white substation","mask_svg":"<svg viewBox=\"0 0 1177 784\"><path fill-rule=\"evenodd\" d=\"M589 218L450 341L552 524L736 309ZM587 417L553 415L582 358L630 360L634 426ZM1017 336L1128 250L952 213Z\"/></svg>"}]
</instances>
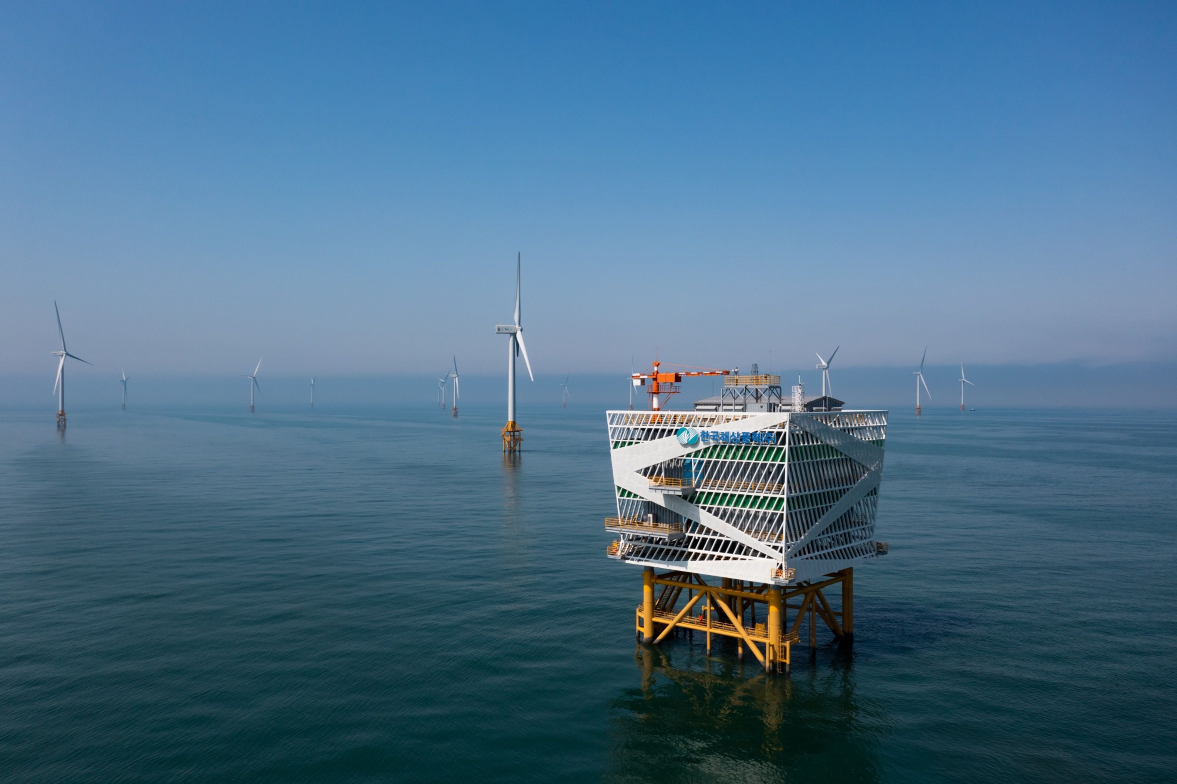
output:
<instances>
[{"instance_id":1,"label":"yellow steel legs and cross bracing beneath the white substation","mask_svg":"<svg viewBox=\"0 0 1177 784\"><path fill-rule=\"evenodd\" d=\"M657 645L676 629L689 629L706 634L707 653L711 636L736 639L740 658L746 647L766 670L776 671L784 664L789 670L792 646L800 643L802 625L809 614L809 645L817 645L817 618L840 639L855 633L855 570L845 569L816 583L778 587L722 578L720 585L710 585L698 574L665 572L653 569L643 572L641 604L637 607L636 629L643 642ZM830 606L824 590L839 585L842 609ZM661 586L661 593L654 592ZM676 610L683 591L687 600ZM789 599L800 597L799 604ZM700 600L703 604L700 605ZM757 605L765 605L764 623L757 623ZM789 610L797 612L792 626L787 624ZM696 614L694 611L698 611ZM751 614L751 626L745 624ZM763 652L762 652L763 646Z\"/></svg>"}]
</instances>

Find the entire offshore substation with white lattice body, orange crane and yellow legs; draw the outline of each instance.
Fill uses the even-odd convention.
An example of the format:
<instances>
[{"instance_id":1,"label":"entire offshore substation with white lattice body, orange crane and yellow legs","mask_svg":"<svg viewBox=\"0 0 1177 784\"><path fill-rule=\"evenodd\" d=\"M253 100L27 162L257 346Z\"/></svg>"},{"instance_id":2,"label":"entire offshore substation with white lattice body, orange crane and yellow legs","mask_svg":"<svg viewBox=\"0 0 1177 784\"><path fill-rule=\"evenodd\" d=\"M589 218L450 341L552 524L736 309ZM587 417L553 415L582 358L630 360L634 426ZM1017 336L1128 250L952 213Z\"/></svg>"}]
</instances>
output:
<instances>
[{"instance_id":1,"label":"entire offshore substation with white lattice body, orange crane and yellow legs","mask_svg":"<svg viewBox=\"0 0 1177 784\"><path fill-rule=\"evenodd\" d=\"M617 492L606 552L643 567L643 642L690 630L710 653L713 636L734 638L742 658L787 671L806 619L811 647L818 618L852 639L855 566L887 551L875 537L886 412L844 411L802 386L785 399L780 377L754 365L714 374L723 393L694 411L661 410L658 396L681 379L654 367L633 374L634 386L658 385L651 411L606 412Z\"/></svg>"}]
</instances>

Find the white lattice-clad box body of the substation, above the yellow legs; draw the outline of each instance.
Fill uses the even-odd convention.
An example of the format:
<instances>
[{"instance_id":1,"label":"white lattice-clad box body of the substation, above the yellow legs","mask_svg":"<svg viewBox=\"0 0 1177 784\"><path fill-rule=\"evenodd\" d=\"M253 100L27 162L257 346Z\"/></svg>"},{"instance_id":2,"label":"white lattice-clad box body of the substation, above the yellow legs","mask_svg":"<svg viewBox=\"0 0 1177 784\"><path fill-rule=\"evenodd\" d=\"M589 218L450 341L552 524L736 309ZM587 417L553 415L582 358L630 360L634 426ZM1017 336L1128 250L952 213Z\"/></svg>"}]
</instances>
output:
<instances>
[{"instance_id":1,"label":"white lattice-clad box body of the substation, above the yellow legs","mask_svg":"<svg viewBox=\"0 0 1177 784\"><path fill-rule=\"evenodd\" d=\"M610 411L612 558L789 585L885 551L885 411Z\"/></svg>"}]
</instances>

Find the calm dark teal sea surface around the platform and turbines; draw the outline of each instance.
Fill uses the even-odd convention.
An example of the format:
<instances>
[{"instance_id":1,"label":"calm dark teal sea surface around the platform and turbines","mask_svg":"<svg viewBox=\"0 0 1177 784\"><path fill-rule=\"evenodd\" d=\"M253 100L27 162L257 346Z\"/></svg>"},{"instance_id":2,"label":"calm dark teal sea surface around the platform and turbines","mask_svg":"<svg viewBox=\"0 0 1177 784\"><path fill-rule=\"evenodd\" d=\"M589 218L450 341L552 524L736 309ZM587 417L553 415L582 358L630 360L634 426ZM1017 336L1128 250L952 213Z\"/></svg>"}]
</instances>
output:
<instances>
[{"instance_id":1,"label":"calm dark teal sea surface around the platform and turbines","mask_svg":"<svg viewBox=\"0 0 1177 784\"><path fill-rule=\"evenodd\" d=\"M0 412L0 779L1175 780L1177 414L892 412L791 676L636 645L600 410ZM697 639L700 637L697 636Z\"/></svg>"}]
</instances>

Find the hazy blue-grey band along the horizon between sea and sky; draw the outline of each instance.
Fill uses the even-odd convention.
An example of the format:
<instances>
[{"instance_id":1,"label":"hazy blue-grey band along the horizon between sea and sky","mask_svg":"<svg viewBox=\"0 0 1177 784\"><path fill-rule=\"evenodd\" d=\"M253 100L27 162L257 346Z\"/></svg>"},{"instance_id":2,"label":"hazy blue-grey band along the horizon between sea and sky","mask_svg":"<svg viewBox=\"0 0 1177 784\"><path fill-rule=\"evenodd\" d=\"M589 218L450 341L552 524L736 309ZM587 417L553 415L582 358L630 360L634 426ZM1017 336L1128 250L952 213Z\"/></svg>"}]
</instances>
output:
<instances>
[{"instance_id":1,"label":"hazy blue-grey band along the horizon between sea and sky","mask_svg":"<svg viewBox=\"0 0 1177 784\"><path fill-rule=\"evenodd\" d=\"M51 408L53 372L40 374L0 374L0 410ZM252 371L252 368L250 368ZM300 410L310 401L310 374L259 373L262 394L258 410ZM466 373L461 376L460 401L467 406L506 405L506 368L498 374ZM764 367L763 370L767 370ZM909 367L847 367L831 368L830 383L834 397L847 407L907 408L915 405L913 377ZM746 368L745 368L746 371ZM1177 407L1177 363L1132 363L1122 365L1083 365L1059 363L1052 365L976 365L966 366L966 377L975 386L967 387L969 406L978 407ZM783 376L786 396L798 373L805 383L806 394L822 390L820 373L812 368L774 370ZM957 408L959 406L959 367L927 365L925 378L931 388L929 399L920 397L925 408ZM119 372L95 368L71 368L67 374L67 411L117 407L121 399ZM200 408L247 407L248 381L240 374L173 376L131 372L128 368L128 407L186 406ZM518 396L520 417L526 418L530 406L560 404L560 384L565 376L540 373L531 381L520 373ZM718 390L711 379L685 379L683 392L670 400L670 407L689 407L693 400L709 397ZM450 405L452 385L447 385L446 406ZM624 408L629 403L629 386L624 374L573 373L568 379L573 407ZM315 377L315 403L320 412L332 408L380 405L433 405L437 400L435 376L368 374ZM647 407L647 396L634 390L634 408Z\"/></svg>"}]
</instances>

